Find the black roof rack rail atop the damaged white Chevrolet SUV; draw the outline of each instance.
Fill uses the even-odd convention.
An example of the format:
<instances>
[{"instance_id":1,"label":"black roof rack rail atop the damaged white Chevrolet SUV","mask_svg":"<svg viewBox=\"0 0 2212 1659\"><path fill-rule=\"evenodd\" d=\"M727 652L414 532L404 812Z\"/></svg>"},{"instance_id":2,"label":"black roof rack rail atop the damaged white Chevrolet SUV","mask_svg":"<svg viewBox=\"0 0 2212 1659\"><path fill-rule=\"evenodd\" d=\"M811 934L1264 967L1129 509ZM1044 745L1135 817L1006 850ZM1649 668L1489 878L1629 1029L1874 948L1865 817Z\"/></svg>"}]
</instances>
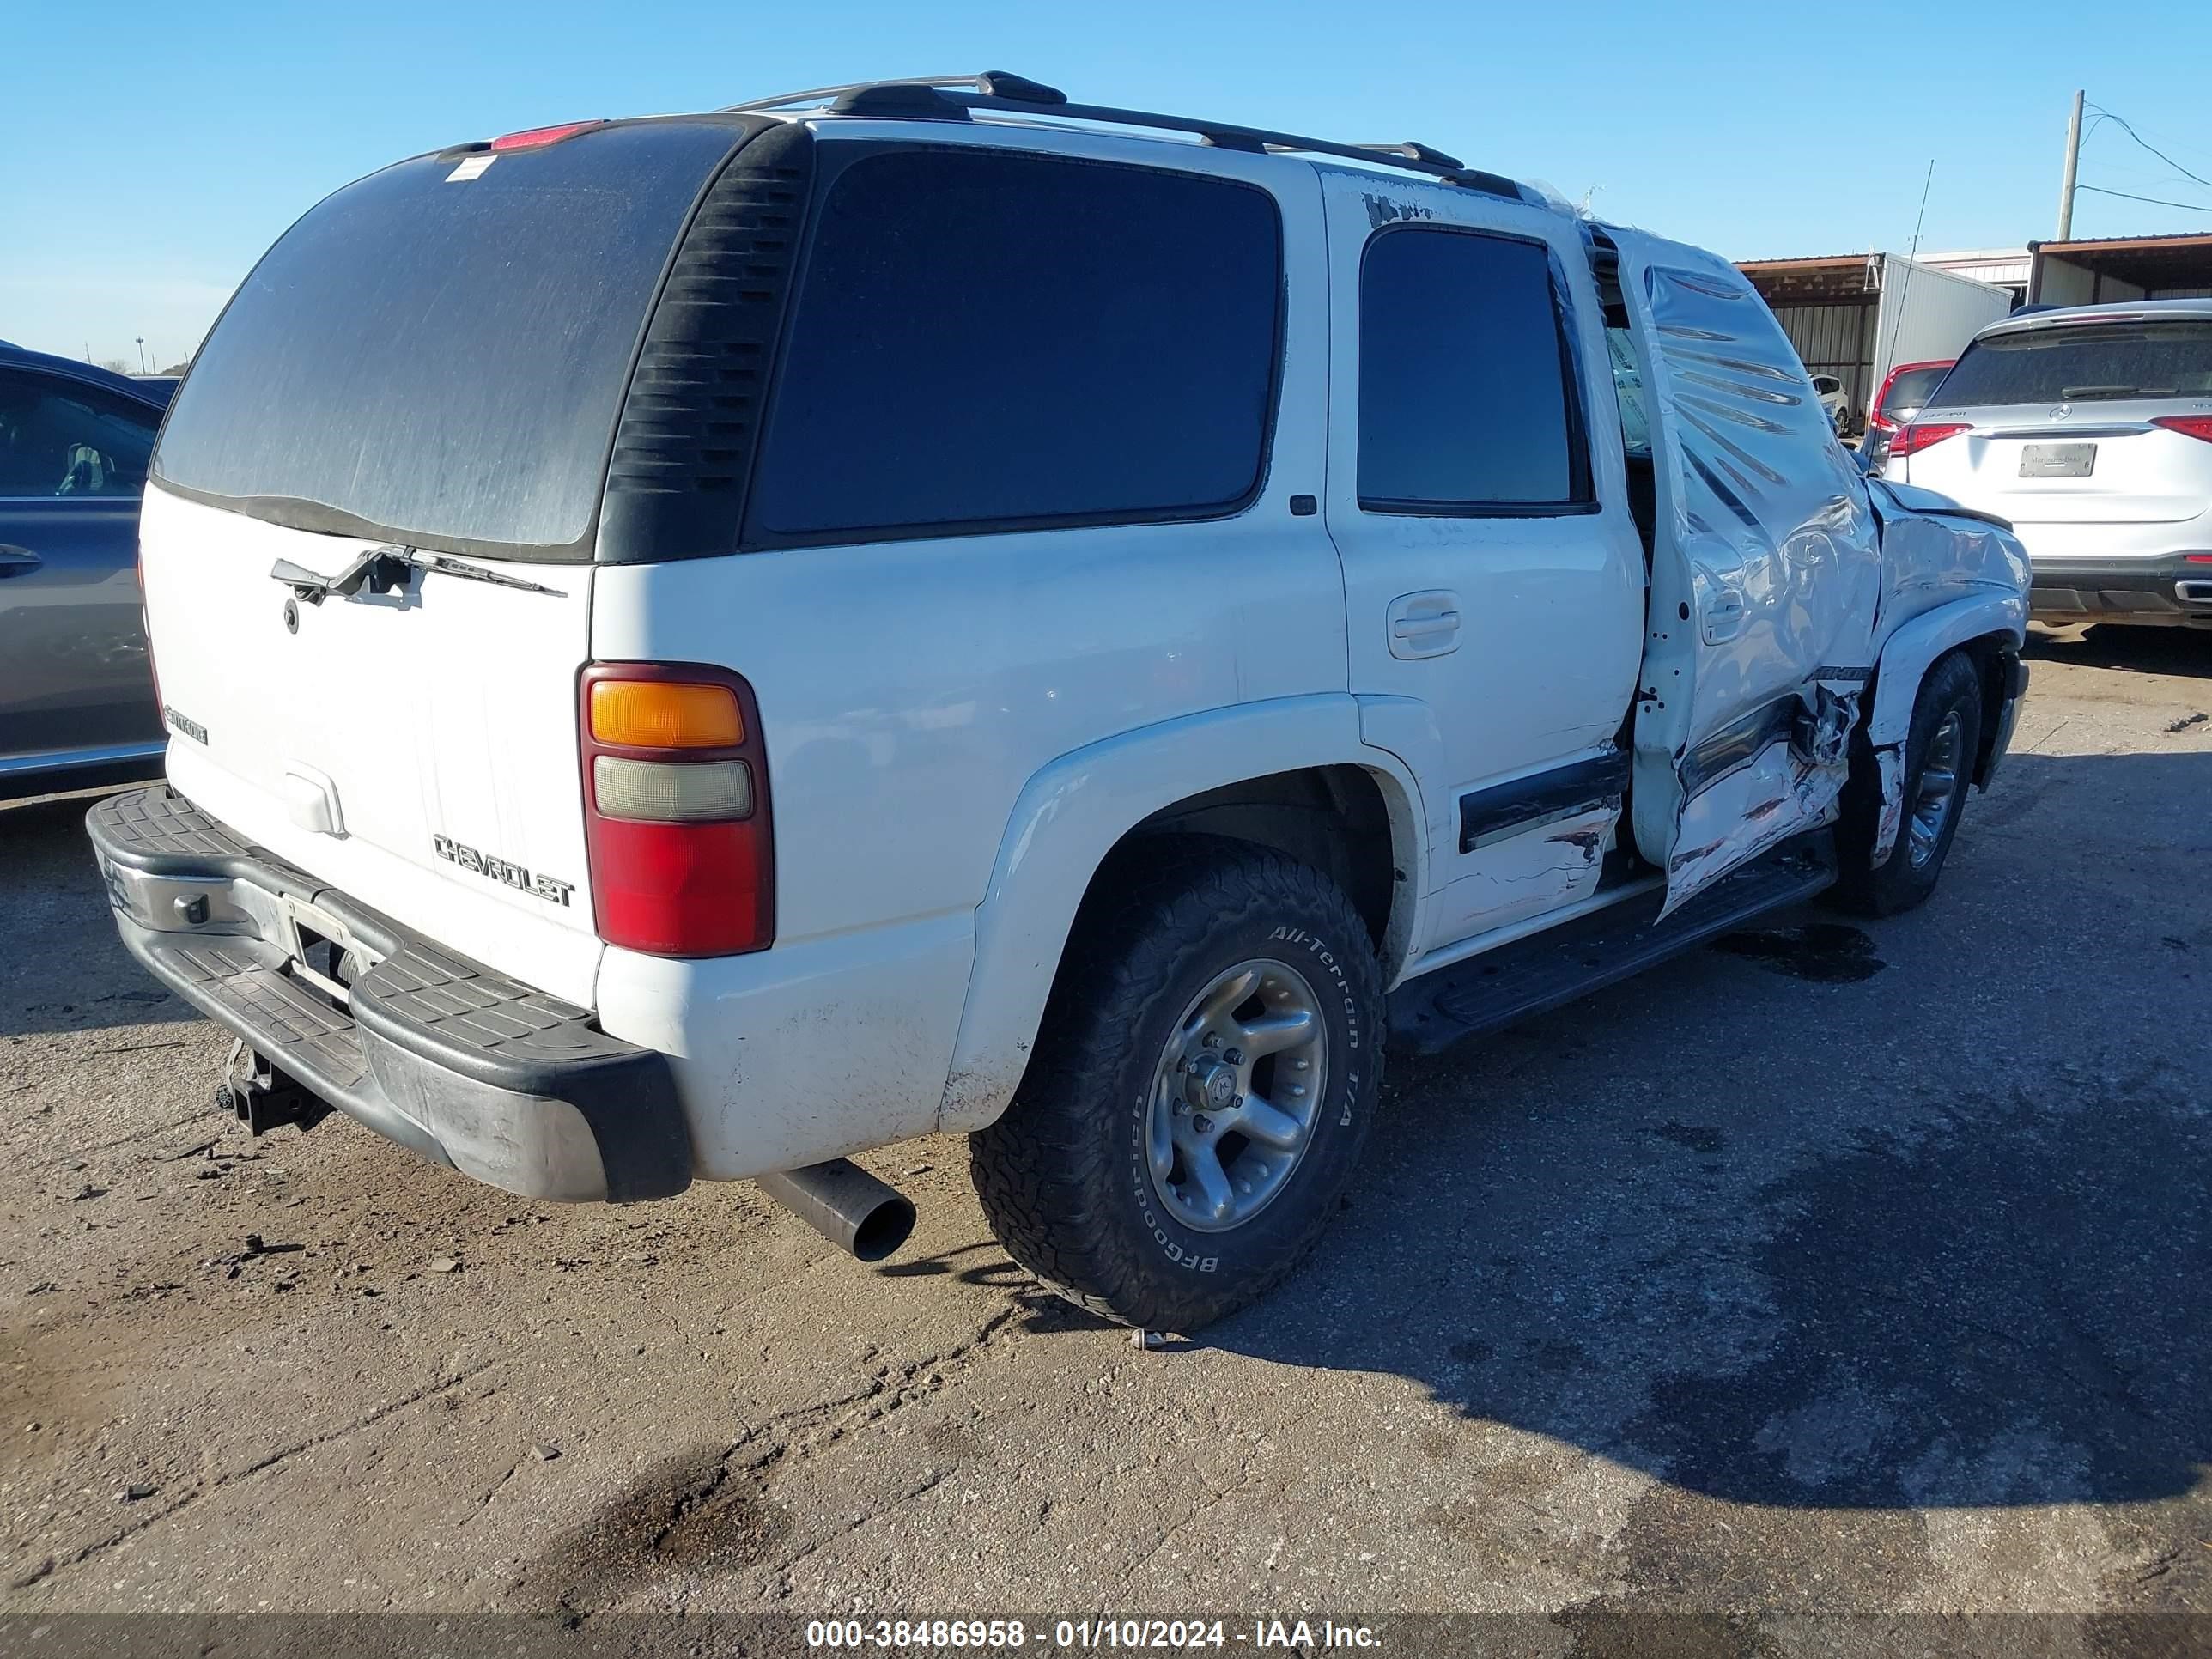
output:
<instances>
[{"instance_id":1,"label":"black roof rack rail atop the damaged white Chevrolet SUV","mask_svg":"<svg viewBox=\"0 0 2212 1659\"><path fill-rule=\"evenodd\" d=\"M730 104L728 111L761 113L803 104L827 104L834 115L905 115L964 122L971 111L1006 111L1013 115L1051 115L1064 122L1095 122L1099 126L1150 126L1159 133L1194 133L1203 144L1223 150L1245 150L1250 155L1336 155L1347 161L1422 173L1467 190L1504 197L1506 201L1531 199L1513 179L1464 166L1458 157L1433 150L1427 144L1336 144L1334 139L1303 137L1298 133L1276 133L1265 126L1201 122L1190 115L1159 115L1155 111L1115 108L1110 104L1071 104L1068 95L1057 86L1011 75L1004 69L987 69L980 75L909 75L900 80L852 82L849 86L814 86L803 93L776 93L774 97Z\"/></svg>"}]
</instances>

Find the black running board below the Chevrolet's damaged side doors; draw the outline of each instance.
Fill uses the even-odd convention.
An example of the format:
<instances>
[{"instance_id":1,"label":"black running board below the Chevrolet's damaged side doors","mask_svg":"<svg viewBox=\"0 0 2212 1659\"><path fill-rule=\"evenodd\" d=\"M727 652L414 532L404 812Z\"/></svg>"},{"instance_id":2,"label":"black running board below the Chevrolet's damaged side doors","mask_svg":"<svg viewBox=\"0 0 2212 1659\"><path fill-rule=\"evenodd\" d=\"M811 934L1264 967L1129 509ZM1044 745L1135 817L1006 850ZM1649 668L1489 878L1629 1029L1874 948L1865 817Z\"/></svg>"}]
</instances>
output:
<instances>
[{"instance_id":1,"label":"black running board below the Chevrolet's damaged side doors","mask_svg":"<svg viewBox=\"0 0 2212 1659\"><path fill-rule=\"evenodd\" d=\"M1389 995L1391 1048L1442 1053L1641 973L1754 916L1812 898L1836 880L1827 841L1820 832L1778 847L1714 883L1663 922L1657 918L1666 896L1652 891L1407 980Z\"/></svg>"}]
</instances>

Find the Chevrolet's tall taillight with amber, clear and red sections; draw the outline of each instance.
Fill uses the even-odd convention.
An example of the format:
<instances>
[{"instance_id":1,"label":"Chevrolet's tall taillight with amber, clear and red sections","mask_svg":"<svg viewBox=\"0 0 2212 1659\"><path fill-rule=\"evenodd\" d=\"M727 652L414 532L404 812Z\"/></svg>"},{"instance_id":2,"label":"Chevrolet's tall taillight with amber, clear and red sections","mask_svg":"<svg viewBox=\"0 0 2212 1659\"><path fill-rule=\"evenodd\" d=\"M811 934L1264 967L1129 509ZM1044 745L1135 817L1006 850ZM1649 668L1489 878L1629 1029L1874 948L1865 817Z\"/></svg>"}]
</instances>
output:
<instances>
[{"instance_id":1,"label":"Chevrolet's tall taillight with amber, clear and red sections","mask_svg":"<svg viewBox=\"0 0 2212 1659\"><path fill-rule=\"evenodd\" d=\"M577 730L599 938L648 956L768 949L774 834L752 688L703 664L593 664Z\"/></svg>"}]
</instances>

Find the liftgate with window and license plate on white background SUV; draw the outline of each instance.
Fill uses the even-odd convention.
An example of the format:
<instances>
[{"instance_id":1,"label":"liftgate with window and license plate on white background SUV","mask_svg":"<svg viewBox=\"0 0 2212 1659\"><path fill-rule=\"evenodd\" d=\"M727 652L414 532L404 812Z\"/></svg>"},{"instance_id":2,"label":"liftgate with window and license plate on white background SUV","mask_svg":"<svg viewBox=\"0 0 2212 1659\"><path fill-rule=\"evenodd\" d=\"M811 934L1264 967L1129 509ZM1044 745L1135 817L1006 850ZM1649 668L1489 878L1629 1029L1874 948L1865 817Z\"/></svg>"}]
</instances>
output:
<instances>
[{"instance_id":1,"label":"liftgate with window and license plate on white background SUV","mask_svg":"<svg viewBox=\"0 0 2212 1659\"><path fill-rule=\"evenodd\" d=\"M2159 425L2212 418L2212 316L2117 312L1980 336L1891 462L2015 524L2177 524L2212 507L2212 442Z\"/></svg>"}]
</instances>

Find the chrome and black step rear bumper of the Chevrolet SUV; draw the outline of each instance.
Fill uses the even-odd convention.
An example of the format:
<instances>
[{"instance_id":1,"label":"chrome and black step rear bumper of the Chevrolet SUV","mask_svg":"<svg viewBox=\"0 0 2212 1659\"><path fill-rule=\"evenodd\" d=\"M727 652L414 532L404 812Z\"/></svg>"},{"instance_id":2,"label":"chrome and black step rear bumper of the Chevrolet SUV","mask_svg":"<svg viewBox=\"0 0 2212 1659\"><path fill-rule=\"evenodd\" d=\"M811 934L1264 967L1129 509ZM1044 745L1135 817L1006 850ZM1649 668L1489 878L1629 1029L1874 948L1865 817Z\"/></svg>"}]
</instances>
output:
<instances>
[{"instance_id":1,"label":"chrome and black step rear bumper of the Chevrolet SUV","mask_svg":"<svg viewBox=\"0 0 2212 1659\"><path fill-rule=\"evenodd\" d=\"M310 1093L531 1199L659 1199L692 1155L668 1057L451 956L248 845L166 787L86 816L131 953ZM352 956L347 998L303 929Z\"/></svg>"}]
</instances>

